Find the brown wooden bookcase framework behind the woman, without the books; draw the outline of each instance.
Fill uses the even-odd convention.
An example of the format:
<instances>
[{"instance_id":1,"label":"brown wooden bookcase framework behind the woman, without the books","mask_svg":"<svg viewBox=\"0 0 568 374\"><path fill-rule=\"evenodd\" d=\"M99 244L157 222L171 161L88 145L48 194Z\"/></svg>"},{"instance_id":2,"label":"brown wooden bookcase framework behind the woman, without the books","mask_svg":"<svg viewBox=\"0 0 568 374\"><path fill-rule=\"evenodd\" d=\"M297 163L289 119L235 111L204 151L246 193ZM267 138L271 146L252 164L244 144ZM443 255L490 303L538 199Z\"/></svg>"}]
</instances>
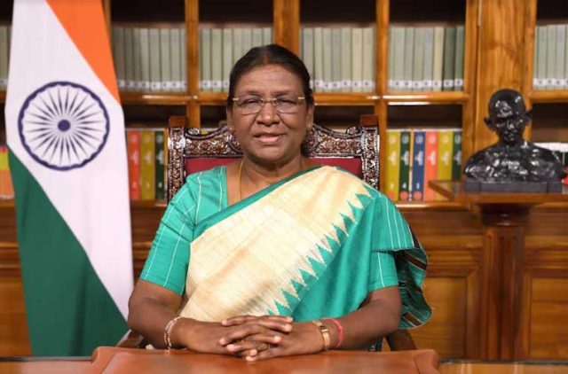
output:
<instances>
[{"instance_id":1,"label":"brown wooden bookcase framework behind the woman, without the books","mask_svg":"<svg viewBox=\"0 0 568 374\"><path fill-rule=\"evenodd\" d=\"M152 0L103 0L103 3L109 31L113 26L176 26L185 30L185 90L121 90L128 128L165 128L170 115L185 115L191 126L210 129L225 118L226 94L200 90L200 29L272 27L274 43L299 53L302 27L373 26L375 88L362 92L316 90L318 123L337 128L356 122L361 113L375 113L380 121L387 123L388 129L460 128L462 160L467 160L473 152L495 141L483 122L486 105L494 90L511 87L521 90L527 104L536 110L534 124L527 128L528 136L540 141L568 141L568 126L562 123L567 117L568 90L533 90L532 86L534 28L539 22L568 23L568 5L562 0L356 0L351 3L344 0L171 0L160 4ZM12 2L3 2L0 24L9 24L11 15ZM458 24L464 27L462 90L389 90L391 26ZM4 101L5 91L0 90L2 110ZM5 125L4 116L0 118L1 143L5 140ZM426 293L436 313L425 328L413 331L414 339L419 347L433 347L444 357L485 357L485 343L477 332L485 328L480 295L489 260L482 253L482 227L477 211L447 201L401 201L397 205L428 249L431 261ZM131 203L137 274L164 208L163 200ZM557 284L568 286L564 276L568 274L566 219L568 209L564 203L533 210L527 230L527 261L536 261L532 265L536 273L547 274L557 279ZM12 200L0 201L0 222L0 269L19 269ZM4 250L9 253L3 257ZM549 269L556 273L549 273ZM10 309L14 311L11 316L0 315L0 323L12 318L7 325L25 328L23 300L20 291L13 291L19 286L20 280L16 277L20 273L12 271L10 274L14 275L9 280L11 294L17 296L12 299L20 304ZM527 273L527 279L533 277L532 274ZM534 279L537 288L545 284L538 277ZM0 292L8 289L3 282L0 277ZM533 308L533 314L527 315L523 323L544 326L540 331L554 330L546 310L550 303L562 303L562 295L548 297L548 300L533 302L532 296L527 295L526 305ZM566 308L557 310L568 313ZM566 329L568 331L568 327ZM26 354L26 337L25 333L13 331L11 344L4 345L8 348L0 345L0 355ZM524 339L529 347L527 358L562 357L568 349L565 343L551 343L538 331Z\"/></svg>"}]
</instances>

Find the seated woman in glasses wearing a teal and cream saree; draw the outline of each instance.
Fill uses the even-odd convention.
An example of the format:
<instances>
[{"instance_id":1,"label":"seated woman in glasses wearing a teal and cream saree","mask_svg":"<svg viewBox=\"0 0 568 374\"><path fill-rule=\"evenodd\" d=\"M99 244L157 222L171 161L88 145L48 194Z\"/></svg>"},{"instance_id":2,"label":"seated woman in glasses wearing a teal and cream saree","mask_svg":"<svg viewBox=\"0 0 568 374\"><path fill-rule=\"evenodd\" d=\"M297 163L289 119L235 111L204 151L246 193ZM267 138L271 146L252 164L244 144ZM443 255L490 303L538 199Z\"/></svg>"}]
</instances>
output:
<instances>
[{"instance_id":1,"label":"seated woman in glasses wearing a teal and cream saree","mask_svg":"<svg viewBox=\"0 0 568 374\"><path fill-rule=\"evenodd\" d=\"M424 323L426 254L389 199L301 144L310 75L278 45L233 67L227 122L243 157L189 175L130 297L154 347L249 361L367 349Z\"/></svg>"}]
</instances>

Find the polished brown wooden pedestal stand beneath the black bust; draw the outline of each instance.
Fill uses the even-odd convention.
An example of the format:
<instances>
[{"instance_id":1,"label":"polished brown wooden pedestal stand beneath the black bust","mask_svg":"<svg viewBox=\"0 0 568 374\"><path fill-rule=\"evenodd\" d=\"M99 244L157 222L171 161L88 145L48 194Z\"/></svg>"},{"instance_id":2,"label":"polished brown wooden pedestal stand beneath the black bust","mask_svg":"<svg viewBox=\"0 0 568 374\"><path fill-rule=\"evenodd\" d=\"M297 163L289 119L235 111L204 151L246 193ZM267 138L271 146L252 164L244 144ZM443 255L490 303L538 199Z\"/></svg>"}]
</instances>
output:
<instances>
[{"instance_id":1,"label":"polished brown wooden pedestal stand beneath the black bust","mask_svg":"<svg viewBox=\"0 0 568 374\"><path fill-rule=\"evenodd\" d=\"M432 181L430 187L464 206L478 206L484 225L480 316L481 359L529 357L525 297L525 227L533 206L568 201L561 193L465 191L461 182Z\"/></svg>"}]
</instances>

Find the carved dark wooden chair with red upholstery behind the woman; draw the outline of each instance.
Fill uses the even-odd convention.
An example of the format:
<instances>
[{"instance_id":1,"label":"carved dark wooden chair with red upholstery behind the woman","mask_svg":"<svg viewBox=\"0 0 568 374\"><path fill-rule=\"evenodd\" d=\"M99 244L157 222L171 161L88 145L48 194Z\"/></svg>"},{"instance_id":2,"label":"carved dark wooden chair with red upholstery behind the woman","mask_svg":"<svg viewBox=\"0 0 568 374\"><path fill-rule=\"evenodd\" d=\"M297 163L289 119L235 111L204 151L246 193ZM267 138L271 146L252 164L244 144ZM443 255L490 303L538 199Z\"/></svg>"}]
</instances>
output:
<instances>
[{"instance_id":1,"label":"carved dark wooden chair with red upholstery behind the woman","mask_svg":"<svg viewBox=\"0 0 568 374\"><path fill-rule=\"evenodd\" d=\"M359 175L364 181L380 189L383 178L381 166L385 149L385 127L375 115L362 115L359 125L345 133L313 125L306 136L303 152L312 160L324 165L338 166ZM167 199L177 193L187 175L225 165L241 157L241 147L221 126L209 134L186 126L183 116L170 117L168 134ZM407 331L395 331L386 337L390 350L416 349ZM120 347L138 347L141 339L135 333L125 335Z\"/></svg>"}]
</instances>

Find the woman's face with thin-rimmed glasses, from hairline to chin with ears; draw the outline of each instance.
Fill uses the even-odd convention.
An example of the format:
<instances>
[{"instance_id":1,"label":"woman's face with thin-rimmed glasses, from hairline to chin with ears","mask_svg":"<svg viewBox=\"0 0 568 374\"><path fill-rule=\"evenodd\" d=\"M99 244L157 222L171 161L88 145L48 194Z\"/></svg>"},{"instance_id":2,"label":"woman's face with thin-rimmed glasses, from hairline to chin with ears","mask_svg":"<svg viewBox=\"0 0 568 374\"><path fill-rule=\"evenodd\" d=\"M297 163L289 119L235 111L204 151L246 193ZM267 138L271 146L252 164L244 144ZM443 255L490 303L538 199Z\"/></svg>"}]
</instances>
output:
<instances>
[{"instance_id":1,"label":"woman's face with thin-rimmed glasses, from hairline to chin with ears","mask_svg":"<svg viewBox=\"0 0 568 374\"><path fill-rule=\"evenodd\" d=\"M245 156L268 165L285 165L301 157L300 146L307 126L313 121L313 106L306 106L303 100L296 113L279 113L269 101L274 97L304 97L302 82L296 74L278 65L258 66L241 76L234 97L267 100L258 113L242 113L236 102L227 110L227 122Z\"/></svg>"}]
</instances>

